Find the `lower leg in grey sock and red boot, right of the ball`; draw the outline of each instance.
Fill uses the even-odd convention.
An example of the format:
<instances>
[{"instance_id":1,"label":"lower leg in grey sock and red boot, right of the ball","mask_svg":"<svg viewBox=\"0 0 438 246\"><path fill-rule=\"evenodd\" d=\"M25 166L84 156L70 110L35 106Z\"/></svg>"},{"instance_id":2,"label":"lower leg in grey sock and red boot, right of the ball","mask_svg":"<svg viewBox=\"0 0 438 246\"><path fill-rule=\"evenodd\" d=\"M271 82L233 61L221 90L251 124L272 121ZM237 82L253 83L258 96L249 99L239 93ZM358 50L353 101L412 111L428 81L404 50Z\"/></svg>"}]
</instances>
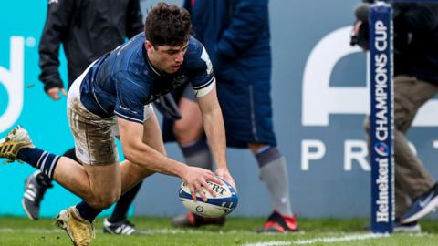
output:
<instances>
[{"instance_id":1,"label":"lower leg in grey sock and red boot, right of the ball","mask_svg":"<svg viewBox=\"0 0 438 246\"><path fill-rule=\"evenodd\" d=\"M260 179L266 183L274 203L274 212L269 216L262 231L297 231L297 218L290 206L286 159L276 146L249 143L248 147L257 159Z\"/></svg>"}]
</instances>

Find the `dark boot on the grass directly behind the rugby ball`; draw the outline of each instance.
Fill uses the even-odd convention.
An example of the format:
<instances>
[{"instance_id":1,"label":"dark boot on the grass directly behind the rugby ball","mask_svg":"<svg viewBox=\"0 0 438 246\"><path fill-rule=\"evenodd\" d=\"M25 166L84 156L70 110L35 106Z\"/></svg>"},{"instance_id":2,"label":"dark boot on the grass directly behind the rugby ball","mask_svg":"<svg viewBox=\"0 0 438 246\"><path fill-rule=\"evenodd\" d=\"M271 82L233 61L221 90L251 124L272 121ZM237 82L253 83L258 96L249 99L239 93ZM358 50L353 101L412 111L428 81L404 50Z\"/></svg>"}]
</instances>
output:
<instances>
[{"instance_id":1,"label":"dark boot on the grass directly behind the rugby ball","mask_svg":"<svg viewBox=\"0 0 438 246\"><path fill-rule=\"evenodd\" d=\"M200 227L203 225L216 225L224 226L225 217L219 218L203 218L193 212L187 212L186 214L177 216L172 220L172 226L174 227Z\"/></svg>"}]
</instances>

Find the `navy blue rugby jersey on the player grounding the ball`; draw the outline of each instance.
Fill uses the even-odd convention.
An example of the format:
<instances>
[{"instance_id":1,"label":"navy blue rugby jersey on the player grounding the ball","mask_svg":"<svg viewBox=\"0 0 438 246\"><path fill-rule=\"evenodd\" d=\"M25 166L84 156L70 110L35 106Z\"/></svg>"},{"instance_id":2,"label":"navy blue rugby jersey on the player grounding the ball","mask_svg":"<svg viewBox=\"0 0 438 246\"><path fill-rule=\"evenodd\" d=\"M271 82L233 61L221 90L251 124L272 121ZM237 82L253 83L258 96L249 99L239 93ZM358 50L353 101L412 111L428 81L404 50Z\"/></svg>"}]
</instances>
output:
<instances>
[{"instance_id":1,"label":"navy blue rugby jersey on the player grounding the ball","mask_svg":"<svg viewBox=\"0 0 438 246\"><path fill-rule=\"evenodd\" d=\"M165 76L151 66L145 39L144 33L132 37L90 67L80 86L80 100L85 108L102 118L116 115L143 123L144 105L187 80L198 97L213 89L215 79L210 58L193 36L180 69Z\"/></svg>"}]
</instances>

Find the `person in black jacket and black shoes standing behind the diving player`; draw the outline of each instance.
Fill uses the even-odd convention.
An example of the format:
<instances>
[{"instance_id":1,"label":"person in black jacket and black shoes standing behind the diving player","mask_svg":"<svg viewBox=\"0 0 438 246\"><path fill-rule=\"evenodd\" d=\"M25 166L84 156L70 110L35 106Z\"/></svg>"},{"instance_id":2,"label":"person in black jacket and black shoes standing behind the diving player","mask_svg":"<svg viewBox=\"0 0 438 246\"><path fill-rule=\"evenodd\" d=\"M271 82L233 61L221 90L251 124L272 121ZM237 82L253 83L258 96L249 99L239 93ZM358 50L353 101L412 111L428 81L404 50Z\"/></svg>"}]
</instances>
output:
<instances>
[{"instance_id":1,"label":"person in black jacket and black shoes standing behind the diving player","mask_svg":"<svg viewBox=\"0 0 438 246\"><path fill-rule=\"evenodd\" d=\"M39 80L47 96L54 100L67 96L58 71L61 44L68 61L69 88L91 62L142 30L139 0L49 0L39 43ZM78 160L74 148L63 156ZM41 200L51 187L51 180L39 170L27 177L22 205L29 219L39 219ZM104 221L104 232L141 233L127 220L130 204L140 188L141 183L120 197L111 217Z\"/></svg>"}]
</instances>

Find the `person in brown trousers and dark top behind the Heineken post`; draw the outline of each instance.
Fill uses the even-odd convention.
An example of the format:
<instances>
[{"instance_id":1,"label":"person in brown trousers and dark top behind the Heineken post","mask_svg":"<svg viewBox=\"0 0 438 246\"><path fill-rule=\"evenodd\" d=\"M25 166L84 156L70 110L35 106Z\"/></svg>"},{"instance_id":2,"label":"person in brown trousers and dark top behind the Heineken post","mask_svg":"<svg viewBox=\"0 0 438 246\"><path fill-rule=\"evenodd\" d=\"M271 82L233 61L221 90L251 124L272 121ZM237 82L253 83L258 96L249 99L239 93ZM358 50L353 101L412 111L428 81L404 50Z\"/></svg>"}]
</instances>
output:
<instances>
[{"instance_id":1,"label":"person in brown trousers and dark top behind the Heineken post","mask_svg":"<svg viewBox=\"0 0 438 246\"><path fill-rule=\"evenodd\" d=\"M351 45L369 49L370 3L355 10ZM438 183L405 137L422 105L438 93L438 4L393 3L394 26L394 231L420 232L422 217L438 206ZM370 118L365 119L370 133ZM370 147L370 138L368 138ZM412 202L411 202L412 201Z\"/></svg>"}]
</instances>

